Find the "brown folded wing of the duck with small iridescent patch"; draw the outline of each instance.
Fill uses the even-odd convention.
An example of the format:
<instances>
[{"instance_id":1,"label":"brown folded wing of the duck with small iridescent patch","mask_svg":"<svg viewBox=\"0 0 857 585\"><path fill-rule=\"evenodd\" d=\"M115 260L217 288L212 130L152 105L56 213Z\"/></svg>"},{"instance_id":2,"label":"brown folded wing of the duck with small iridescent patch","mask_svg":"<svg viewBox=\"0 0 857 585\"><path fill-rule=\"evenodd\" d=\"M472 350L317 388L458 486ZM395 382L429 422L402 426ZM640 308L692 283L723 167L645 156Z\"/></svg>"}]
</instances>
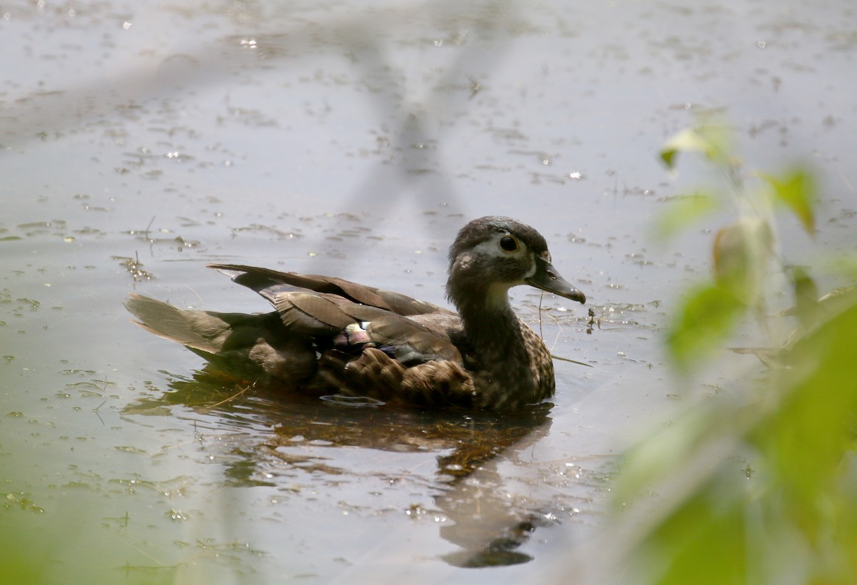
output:
<instances>
[{"instance_id":1,"label":"brown folded wing of the duck with small iridescent patch","mask_svg":"<svg viewBox=\"0 0 857 585\"><path fill-rule=\"evenodd\" d=\"M209 266L265 297L287 331L313 338L319 349L356 354L375 347L405 366L462 363L456 344L460 320L446 308L342 278L254 266Z\"/></svg>"}]
</instances>

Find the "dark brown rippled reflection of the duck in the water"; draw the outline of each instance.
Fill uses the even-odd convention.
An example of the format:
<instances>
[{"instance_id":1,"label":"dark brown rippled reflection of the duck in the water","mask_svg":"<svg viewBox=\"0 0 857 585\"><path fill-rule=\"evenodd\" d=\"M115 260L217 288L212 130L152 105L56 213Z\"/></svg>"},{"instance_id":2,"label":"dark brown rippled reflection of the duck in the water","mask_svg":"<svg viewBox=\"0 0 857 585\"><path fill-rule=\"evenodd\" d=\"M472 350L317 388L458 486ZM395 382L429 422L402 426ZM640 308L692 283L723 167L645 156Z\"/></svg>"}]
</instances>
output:
<instances>
[{"instance_id":1,"label":"dark brown rippled reflection of the duck in the water","mask_svg":"<svg viewBox=\"0 0 857 585\"><path fill-rule=\"evenodd\" d=\"M284 396L271 389L237 386L207 372L195 373L193 379L171 378L170 391L130 404L124 413L171 415L172 405L183 405L197 414L213 415L231 437L219 443L228 453L213 454L226 460L229 485L277 486L278 480L291 482L293 472L299 471L314 479L321 475L322 483L335 486L344 476L379 475L351 469L360 457L375 458L365 450L434 453L436 466L410 479L422 481L434 494L432 513L443 519L440 536L460 549L444 557L455 566L527 562L530 556L516 549L536 528L556 522L549 511L505 492L497 468L502 461L515 463L548 433L553 404L514 413L418 410L379 406L375 401ZM355 447L364 451L346 451L349 455L343 457L336 449ZM284 468L288 470L271 473ZM417 516L428 510L414 504L407 513Z\"/></svg>"}]
</instances>

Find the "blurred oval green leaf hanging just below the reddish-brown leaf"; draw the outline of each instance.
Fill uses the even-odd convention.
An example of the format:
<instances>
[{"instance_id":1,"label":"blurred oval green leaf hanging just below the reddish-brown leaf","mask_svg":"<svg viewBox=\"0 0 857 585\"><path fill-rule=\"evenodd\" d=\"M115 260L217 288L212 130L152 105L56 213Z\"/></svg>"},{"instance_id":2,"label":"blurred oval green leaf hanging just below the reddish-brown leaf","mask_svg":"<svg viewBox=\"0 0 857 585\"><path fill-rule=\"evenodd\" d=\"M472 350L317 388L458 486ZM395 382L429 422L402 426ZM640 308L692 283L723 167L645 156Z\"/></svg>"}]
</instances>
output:
<instances>
[{"instance_id":1,"label":"blurred oval green leaf hanging just below the reddish-brown leaf","mask_svg":"<svg viewBox=\"0 0 857 585\"><path fill-rule=\"evenodd\" d=\"M727 288L716 284L692 290L667 338L670 355L679 369L687 371L722 347L744 307Z\"/></svg>"}]
</instances>

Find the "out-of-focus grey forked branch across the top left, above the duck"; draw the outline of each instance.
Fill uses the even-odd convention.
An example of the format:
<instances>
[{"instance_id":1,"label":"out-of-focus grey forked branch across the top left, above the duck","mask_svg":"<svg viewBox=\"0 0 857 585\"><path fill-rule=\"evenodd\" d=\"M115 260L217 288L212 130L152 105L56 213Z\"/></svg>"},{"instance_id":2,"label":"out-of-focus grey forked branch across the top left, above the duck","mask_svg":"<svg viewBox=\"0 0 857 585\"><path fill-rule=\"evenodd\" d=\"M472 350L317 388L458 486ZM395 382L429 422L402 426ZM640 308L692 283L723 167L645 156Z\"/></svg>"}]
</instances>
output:
<instances>
[{"instance_id":1,"label":"out-of-focus grey forked branch across the top left, above the duck","mask_svg":"<svg viewBox=\"0 0 857 585\"><path fill-rule=\"evenodd\" d=\"M248 68L254 72L272 66L287 70L296 59L345 49L360 72L358 82L383 80L379 91L368 93L366 103L374 110L378 127L391 136L390 146L396 154L357 184L340 211L386 212L391 206L412 201L420 210L446 204L450 214L459 212L462 197L441 156L455 125L444 123L444 116L473 108L474 82L470 80L485 78L500 63L512 42L509 31L518 18L516 4L511 0L395 4L359 13L315 10L312 18L300 9L293 14L293 8L243 18L232 15L223 33L209 40L188 32L195 11L212 10L202 3L143 5L128 17L126 30L111 39L115 45L99 79L87 78L69 87L45 85L36 91L23 88L27 93L9 99L0 114L0 140L6 147L49 140L51 134L58 136L83 122L115 117L117 111L133 112L153 100L186 99L189 93L217 87ZM224 13L216 12L213 18ZM389 30L396 30L396 37ZM407 38L409 31L414 43L434 39L434 45L446 51L448 63L440 66L440 75L434 82L424 83L425 87L420 83L426 68L405 69L395 63L396 38L403 34ZM437 38L443 34L452 40ZM264 61L259 52L248 50L249 45L255 46L248 39L256 38L265 39L260 44L263 48L266 43L271 45ZM432 227L432 216L417 215L426 229Z\"/></svg>"}]
</instances>

